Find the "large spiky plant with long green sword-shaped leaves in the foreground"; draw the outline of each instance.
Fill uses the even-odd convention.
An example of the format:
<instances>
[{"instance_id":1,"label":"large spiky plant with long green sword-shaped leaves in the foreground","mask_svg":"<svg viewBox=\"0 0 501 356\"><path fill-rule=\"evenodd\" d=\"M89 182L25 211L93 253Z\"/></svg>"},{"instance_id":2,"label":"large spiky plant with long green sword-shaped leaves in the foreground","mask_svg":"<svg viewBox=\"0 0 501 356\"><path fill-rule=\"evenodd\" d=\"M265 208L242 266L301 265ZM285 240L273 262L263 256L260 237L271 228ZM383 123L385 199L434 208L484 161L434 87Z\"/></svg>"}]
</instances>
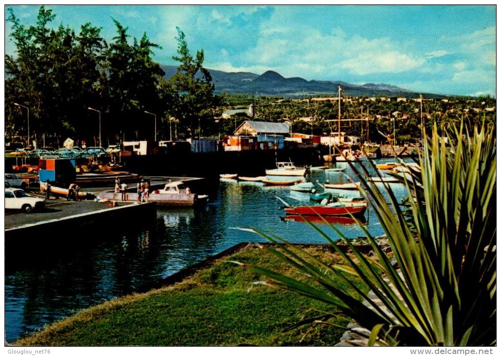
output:
<instances>
[{"instance_id":1,"label":"large spiky plant with long green sword-shaped leaves in the foreground","mask_svg":"<svg viewBox=\"0 0 501 356\"><path fill-rule=\"evenodd\" d=\"M496 148L494 128L463 125L440 139L436 126L424 143L420 171L405 180L407 211L357 172L377 215L391 252L360 225L374 254L360 253L334 225L353 252L344 252L315 225L345 260L330 264L280 237L252 229L277 242L264 247L298 268L315 283L295 280L259 266L247 266L269 278L262 283L336 305L371 330L369 342L390 345L493 345L496 342ZM388 198L389 197L389 198ZM389 201L387 201L389 199ZM278 243L280 242L280 243ZM377 296L351 282L358 276ZM337 287L345 279L357 296ZM362 300L362 301L361 301ZM365 302L363 302L365 301ZM330 316L330 315L328 315ZM325 322L326 315L319 317ZM310 320L310 321L313 321ZM319 321L319 320L317 320Z\"/></svg>"}]
</instances>

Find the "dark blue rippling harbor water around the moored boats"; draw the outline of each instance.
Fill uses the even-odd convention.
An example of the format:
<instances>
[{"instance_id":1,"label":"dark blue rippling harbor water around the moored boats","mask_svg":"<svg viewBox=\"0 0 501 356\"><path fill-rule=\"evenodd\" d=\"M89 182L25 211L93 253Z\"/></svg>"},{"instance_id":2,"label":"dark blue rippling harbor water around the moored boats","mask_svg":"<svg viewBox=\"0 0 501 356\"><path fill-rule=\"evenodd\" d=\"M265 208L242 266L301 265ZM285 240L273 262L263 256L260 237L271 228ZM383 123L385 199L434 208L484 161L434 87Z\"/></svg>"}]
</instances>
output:
<instances>
[{"instance_id":1,"label":"dark blue rippling harbor water around the moored boats","mask_svg":"<svg viewBox=\"0 0 501 356\"><path fill-rule=\"evenodd\" d=\"M377 163L385 161L393 160ZM375 175L365 165L370 175ZM349 167L344 172L312 170L307 179L346 182L348 177L356 180ZM390 186L397 199L407 196L403 185ZM91 234L71 229L54 231L54 236L40 236L36 246L6 250L6 341L12 342L82 308L147 291L162 278L237 243L267 242L257 234L235 229L238 227L274 233L295 243L326 243L308 223L284 219L282 200L308 205L308 193L291 191L288 186L234 180L221 180L208 190L210 201L203 208L157 208L152 224L141 224L141 216L137 216L134 228L123 221L109 221L95 227ZM360 221L373 236L384 234L370 208ZM347 237L364 235L351 219L333 224ZM331 238L339 238L327 224L318 226Z\"/></svg>"}]
</instances>

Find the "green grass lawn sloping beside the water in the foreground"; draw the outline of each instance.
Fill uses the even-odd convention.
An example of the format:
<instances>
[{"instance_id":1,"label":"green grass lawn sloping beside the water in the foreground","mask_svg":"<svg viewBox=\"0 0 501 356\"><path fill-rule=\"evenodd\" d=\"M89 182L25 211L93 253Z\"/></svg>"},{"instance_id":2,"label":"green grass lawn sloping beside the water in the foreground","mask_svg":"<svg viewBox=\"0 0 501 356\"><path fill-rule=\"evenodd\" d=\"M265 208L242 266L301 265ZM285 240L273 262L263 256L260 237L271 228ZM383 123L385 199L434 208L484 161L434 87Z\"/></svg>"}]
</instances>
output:
<instances>
[{"instance_id":1,"label":"green grass lawn sloping beside the water in the foreground","mask_svg":"<svg viewBox=\"0 0 501 356\"><path fill-rule=\"evenodd\" d=\"M335 255L309 247L325 260ZM309 309L336 310L269 286L262 277L228 263L255 263L290 275L297 272L261 249L247 247L173 286L117 298L47 326L19 345L333 345L342 328L305 326L283 332ZM340 281L341 283L341 281ZM311 316L311 315L309 315ZM340 319L341 325L347 320Z\"/></svg>"}]
</instances>

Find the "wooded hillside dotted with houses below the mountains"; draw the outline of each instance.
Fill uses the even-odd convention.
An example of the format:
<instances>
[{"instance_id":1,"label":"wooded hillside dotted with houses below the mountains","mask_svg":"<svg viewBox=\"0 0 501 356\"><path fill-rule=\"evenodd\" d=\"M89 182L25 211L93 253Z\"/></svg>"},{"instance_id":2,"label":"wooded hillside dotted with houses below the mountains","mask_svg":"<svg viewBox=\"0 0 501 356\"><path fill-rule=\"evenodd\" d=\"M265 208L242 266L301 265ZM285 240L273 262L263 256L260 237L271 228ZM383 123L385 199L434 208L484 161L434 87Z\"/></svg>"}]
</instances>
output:
<instances>
[{"instance_id":1,"label":"wooded hillside dotted with houses below the mountains","mask_svg":"<svg viewBox=\"0 0 501 356\"><path fill-rule=\"evenodd\" d=\"M457 126L461 120L468 123L468 127L473 127L481 124L483 120L495 123L496 119L496 100L488 96L446 97L443 100L424 98L422 106L420 102L410 99L397 101L396 98L391 98L388 101L388 98L381 96L373 99L346 96L341 101L341 119L354 121L342 121L340 131L359 136L362 141L368 140L374 143L388 143L388 137L393 137L395 133L398 143L415 143L421 139L421 114L428 133L431 133L434 122L438 124L440 133L442 130ZM310 101L294 101L290 98L254 95L244 97L239 94L226 95L224 102L227 103L227 107L231 107L231 104L240 107L254 104L256 112L254 120L276 122L286 120L292 123L293 132L313 135L331 133L336 135L339 132L337 101L315 102L311 98Z\"/></svg>"}]
</instances>

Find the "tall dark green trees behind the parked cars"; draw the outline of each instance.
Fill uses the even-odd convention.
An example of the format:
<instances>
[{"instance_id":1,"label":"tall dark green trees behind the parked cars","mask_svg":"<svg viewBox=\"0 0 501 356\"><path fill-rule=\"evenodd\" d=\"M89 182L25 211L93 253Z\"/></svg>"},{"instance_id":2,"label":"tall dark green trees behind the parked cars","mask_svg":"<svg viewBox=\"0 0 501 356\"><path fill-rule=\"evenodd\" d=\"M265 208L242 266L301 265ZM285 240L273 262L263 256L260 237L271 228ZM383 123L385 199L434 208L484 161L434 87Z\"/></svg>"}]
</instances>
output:
<instances>
[{"instance_id":1,"label":"tall dark green trees behind the parked cars","mask_svg":"<svg viewBox=\"0 0 501 356\"><path fill-rule=\"evenodd\" d=\"M203 51L193 57L180 29L173 57L180 64L166 80L152 60L153 50L161 47L146 34L131 39L128 28L113 20L116 37L108 44L90 23L78 32L63 25L53 29L54 18L41 6L36 24L25 27L8 9L17 53L5 57L6 141L61 144L72 137L89 146L99 143L100 128L103 145L153 139L155 117L159 139L169 139L174 127L185 137L196 133L200 118L211 115L214 86L203 68Z\"/></svg>"}]
</instances>

